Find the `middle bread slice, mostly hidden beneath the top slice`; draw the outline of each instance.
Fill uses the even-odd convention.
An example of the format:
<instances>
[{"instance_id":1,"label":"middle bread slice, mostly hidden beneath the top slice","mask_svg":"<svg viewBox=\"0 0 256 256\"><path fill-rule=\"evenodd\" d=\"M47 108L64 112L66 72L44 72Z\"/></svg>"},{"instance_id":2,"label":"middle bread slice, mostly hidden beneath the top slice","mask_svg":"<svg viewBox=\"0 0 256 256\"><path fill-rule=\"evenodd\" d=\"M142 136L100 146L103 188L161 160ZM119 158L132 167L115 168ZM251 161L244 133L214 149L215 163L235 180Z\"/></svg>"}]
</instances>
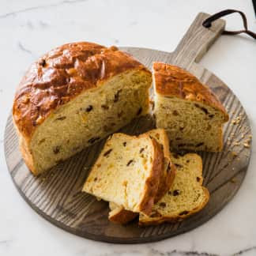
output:
<instances>
[{"instance_id":1,"label":"middle bread slice, mostly hidden beneath the top slice","mask_svg":"<svg viewBox=\"0 0 256 256\"><path fill-rule=\"evenodd\" d=\"M168 192L175 179L175 165L171 162L171 154L169 150L169 141L168 136L165 133L164 129L155 129L147 132L150 137L156 139L156 141L161 145L164 151L164 172L162 178L160 179L160 186L155 198L155 202L159 201L160 198ZM132 213L127 211L120 205L115 205L114 203L109 203L109 208L111 211L108 215L108 220L118 224L126 224L137 216L137 213Z\"/></svg>"}]
</instances>

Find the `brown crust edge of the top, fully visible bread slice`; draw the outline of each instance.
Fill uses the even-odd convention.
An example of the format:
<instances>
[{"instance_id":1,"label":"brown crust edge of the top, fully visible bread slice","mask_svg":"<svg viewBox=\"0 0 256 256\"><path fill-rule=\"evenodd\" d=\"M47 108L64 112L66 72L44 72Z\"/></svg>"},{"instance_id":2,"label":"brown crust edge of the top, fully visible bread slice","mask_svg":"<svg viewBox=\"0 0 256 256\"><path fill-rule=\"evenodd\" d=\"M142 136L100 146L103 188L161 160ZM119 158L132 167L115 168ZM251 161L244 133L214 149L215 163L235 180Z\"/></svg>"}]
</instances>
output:
<instances>
[{"instance_id":1,"label":"brown crust edge of the top, fully visible bread slice","mask_svg":"<svg viewBox=\"0 0 256 256\"><path fill-rule=\"evenodd\" d=\"M142 134L141 136L148 135ZM164 169L164 152L161 149L160 144L154 138L151 138L151 140L154 148L152 170L148 179L145 180L144 193L141 195L141 201L138 204L137 209L138 212L145 213L146 215L149 215L152 211L152 206L154 205Z\"/></svg>"}]
</instances>

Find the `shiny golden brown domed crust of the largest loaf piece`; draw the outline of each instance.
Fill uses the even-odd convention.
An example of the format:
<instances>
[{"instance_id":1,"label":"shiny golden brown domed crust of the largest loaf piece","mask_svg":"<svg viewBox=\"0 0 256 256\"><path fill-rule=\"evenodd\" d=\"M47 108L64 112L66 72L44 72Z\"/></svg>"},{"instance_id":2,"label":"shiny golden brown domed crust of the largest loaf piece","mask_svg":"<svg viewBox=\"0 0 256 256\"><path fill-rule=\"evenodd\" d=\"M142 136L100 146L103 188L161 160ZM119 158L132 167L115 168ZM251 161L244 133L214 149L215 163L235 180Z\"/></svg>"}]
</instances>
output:
<instances>
[{"instance_id":1,"label":"shiny golden brown domed crust of the largest loaf piece","mask_svg":"<svg viewBox=\"0 0 256 256\"><path fill-rule=\"evenodd\" d=\"M81 92L133 69L146 70L140 62L116 47L86 42L57 47L25 73L13 102L13 121L29 141L36 126L56 108Z\"/></svg>"}]
</instances>

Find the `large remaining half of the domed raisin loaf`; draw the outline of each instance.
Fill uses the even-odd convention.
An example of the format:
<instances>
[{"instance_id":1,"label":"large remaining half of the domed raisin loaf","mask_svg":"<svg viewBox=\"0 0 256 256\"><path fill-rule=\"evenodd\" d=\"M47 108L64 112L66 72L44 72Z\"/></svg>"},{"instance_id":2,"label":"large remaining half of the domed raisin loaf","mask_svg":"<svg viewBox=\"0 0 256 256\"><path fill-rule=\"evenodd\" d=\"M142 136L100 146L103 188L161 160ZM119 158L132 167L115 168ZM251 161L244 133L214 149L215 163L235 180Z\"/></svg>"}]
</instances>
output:
<instances>
[{"instance_id":1,"label":"large remaining half of the domed raisin loaf","mask_svg":"<svg viewBox=\"0 0 256 256\"><path fill-rule=\"evenodd\" d=\"M35 174L119 130L149 108L149 70L116 47L68 43L32 64L13 122Z\"/></svg>"}]
</instances>

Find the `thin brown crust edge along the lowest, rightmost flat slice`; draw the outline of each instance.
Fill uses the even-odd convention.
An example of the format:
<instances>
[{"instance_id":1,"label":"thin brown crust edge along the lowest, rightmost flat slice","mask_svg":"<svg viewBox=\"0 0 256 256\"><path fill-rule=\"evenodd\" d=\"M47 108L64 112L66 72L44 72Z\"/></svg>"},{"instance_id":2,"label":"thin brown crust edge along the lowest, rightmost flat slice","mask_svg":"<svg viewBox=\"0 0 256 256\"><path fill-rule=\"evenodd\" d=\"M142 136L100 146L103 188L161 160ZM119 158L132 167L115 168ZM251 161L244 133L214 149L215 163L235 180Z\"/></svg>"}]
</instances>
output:
<instances>
[{"instance_id":1,"label":"thin brown crust edge along the lowest, rightmost flat slice","mask_svg":"<svg viewBox=\"0 0 256 256\"><path fill-rule=\"evenodd\" d=\"M148 218L147 221L139 221L139 226L145 227L145 226L149 226L149 225L162 224L164 222L173 223L173 222L183 221L190 215L193 215L194 213L198 213L199 211L201 211L201 209L203 209L205 207L205 205L209 201L209 191L204 186L202 187L202 189L205 191L205 201L202 201L201 205L198 205L198 207L194 208L192 211L190 211L186 215L183 215L183 216L176 215L176 216L170 216L170 217L159 216L159 217L154 217L154 218Z\"/></svg>"}]
</instances>

